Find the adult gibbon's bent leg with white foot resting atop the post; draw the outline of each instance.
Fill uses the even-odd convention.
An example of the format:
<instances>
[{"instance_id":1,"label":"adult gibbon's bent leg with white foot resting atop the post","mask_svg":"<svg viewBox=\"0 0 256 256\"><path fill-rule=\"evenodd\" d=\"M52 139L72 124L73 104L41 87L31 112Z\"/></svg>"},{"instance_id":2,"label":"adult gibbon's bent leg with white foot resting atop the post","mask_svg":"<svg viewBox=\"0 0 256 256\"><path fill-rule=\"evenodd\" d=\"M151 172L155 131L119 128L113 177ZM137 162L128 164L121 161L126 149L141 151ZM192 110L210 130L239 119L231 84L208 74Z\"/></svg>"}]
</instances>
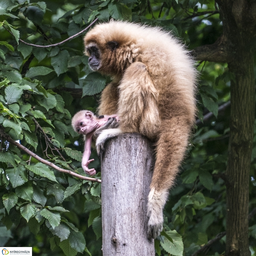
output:
<instances>
[{"instance_id":1,"label":"adult gibbon's bent leg with white foot resting atop the post","mask_svg":"<svg viewBox=\"0 0 256 256\"><path fill-rule=\"evenodd\" d=\"M156 138L160 126L158 91L146 65L142 62L132 63L124 72L118 92L117 115L120 126L100 133L96 141L97 152L104 148L106 140L126 132L139 132L150 139Z\"/></svg>"}]
</instances>

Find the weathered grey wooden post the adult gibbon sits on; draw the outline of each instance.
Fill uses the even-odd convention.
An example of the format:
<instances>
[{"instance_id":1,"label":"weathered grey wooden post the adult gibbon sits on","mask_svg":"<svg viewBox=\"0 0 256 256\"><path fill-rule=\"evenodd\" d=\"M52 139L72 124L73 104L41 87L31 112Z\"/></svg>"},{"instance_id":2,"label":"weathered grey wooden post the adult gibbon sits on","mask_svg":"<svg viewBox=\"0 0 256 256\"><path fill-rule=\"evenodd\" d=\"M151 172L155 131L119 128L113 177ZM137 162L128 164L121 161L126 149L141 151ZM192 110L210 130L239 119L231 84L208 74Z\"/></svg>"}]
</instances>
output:
<instances>
[{"instance_id":1,"label":"weathered grey wooden post the adult gibbon sits on","mask_svg":"<svg viewBox=\"0 0 256 256\"><path fill-rule=\"evenodd\" d=\"M101 158L103 256L155 256L147 238L152 143L125 133L106 142Z\"/></svg>"}]
</instances>

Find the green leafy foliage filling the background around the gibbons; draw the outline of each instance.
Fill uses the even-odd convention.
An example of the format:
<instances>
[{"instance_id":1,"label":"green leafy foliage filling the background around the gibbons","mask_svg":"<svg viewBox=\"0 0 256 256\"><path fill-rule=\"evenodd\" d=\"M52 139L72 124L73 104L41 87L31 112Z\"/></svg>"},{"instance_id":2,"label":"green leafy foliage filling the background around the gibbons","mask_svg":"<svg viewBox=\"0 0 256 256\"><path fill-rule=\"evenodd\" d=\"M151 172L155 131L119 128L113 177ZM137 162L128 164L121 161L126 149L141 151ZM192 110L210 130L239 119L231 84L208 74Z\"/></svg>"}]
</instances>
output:
<instances>
[{"instance_id":1,"label":"green leafy foliage filling the background around the gibbons","mask_svg":"<svg viewBox=\"0 0 256 256\"><path fill-rule=\"evenodd\" d=\"M80 163L83 141L71 127L71 116L80 109L96 111L110 78L89 69L82 37L50 44L75 35L95 18L114 18L163 27L194 49L221 35L215 8L212 0L0 0L1 134L61 168L85 175ZM218 107L229 100L233 78L226 64L204 62L198 70L198 118L203 120L209 111L214 116L195 127L188 157L165 207L164 231L155 240L159 256L191 255L225 230L221 174L227 164L229 109L218 113ZM100 184L57 172L4 137L0 140L0 245L33 246L33 255L101 255ZM95 152L92 157L91 165L99 171ZM256 145L250 209L256 204L255 161ZM100 173L96 176L100 178ZM253 220L249 230L255 255ZM222 239L207 255L222 255L224 248Z\"/></svg>"}]
</instances>

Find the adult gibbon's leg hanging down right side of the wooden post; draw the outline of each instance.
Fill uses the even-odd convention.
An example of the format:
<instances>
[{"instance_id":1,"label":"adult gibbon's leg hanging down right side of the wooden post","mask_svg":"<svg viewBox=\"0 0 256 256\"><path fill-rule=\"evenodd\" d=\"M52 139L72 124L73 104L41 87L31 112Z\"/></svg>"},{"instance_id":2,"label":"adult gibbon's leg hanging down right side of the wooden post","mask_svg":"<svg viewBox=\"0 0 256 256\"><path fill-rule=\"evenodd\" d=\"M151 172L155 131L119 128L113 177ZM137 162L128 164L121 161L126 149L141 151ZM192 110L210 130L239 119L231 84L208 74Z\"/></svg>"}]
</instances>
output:
<instances>
[{"instance_id":1,"label":"adult gibbon's leg hanging down right side of the wooden post","mask_svg":"<svg viewBox=\"0 0 256 256\"><path fill-rule=\"evenodd\" d=\"M163 209L168 190L173 186L188 143L190 124L186 117L163 120L156 145L156 164L148 195L148 238L156 238L163 229Z\"/></svg>"}]
</instances>

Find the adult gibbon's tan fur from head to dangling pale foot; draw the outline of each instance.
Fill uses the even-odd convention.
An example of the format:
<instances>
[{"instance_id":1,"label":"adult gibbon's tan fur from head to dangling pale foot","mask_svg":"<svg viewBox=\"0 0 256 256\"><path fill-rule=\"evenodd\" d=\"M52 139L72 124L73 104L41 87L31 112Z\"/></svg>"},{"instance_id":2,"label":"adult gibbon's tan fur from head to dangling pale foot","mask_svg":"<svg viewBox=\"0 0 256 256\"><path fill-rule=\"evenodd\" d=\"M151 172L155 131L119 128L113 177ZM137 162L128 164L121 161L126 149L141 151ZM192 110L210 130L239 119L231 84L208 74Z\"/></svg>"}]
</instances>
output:
<instances>
[{"instance_id":1,"label":"adult gibbon's tan fur from head to dangling pale foot","mask_svg":"<svg viewBox=\"0 0 256 256\"><path fill-rule=\"evenodd\" d=\"M113 41L118 43L115 50L108 47ZM98 47L98 71L113 77L101 94L99 114L120 117L119 129L104 130L96 145L111 134L125 132L139 132L156 141L148 197L148 236L155 238L162 230L168 190L174 184L195 121L194 62L170 33L123 21L96 25L84 37L84 44L87 50Z\"/></svg>"}]
</instances>

